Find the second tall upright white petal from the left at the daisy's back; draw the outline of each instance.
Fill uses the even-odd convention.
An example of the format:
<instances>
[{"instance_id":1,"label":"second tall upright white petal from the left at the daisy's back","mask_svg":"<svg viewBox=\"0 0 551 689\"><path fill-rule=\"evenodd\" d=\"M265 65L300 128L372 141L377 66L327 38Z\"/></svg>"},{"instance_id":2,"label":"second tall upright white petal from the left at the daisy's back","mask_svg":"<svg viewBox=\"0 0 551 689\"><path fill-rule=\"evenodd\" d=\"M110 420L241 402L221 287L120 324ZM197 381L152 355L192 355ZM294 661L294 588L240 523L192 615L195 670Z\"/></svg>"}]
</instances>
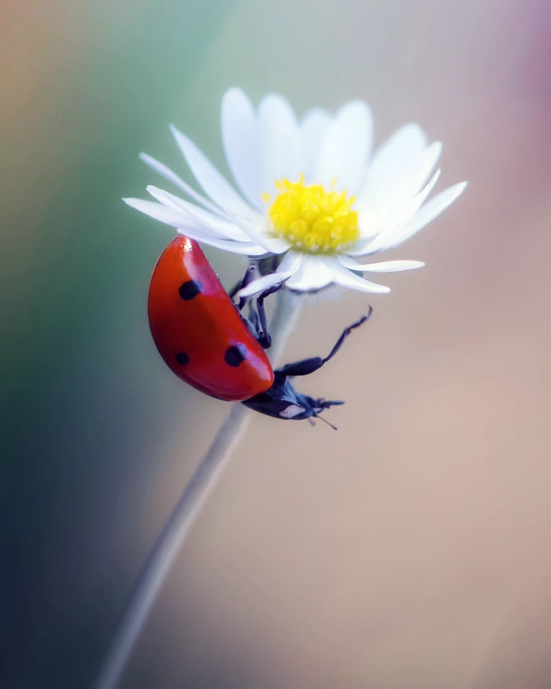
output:
<instances>
[{"instance_id":1,"label":"second tall upright white petal from the left at the daisy's back","mask_svg":"<svg viewBox=\"0 0 551 689\"><path fill-rule=\"evenodd\" d=\"M262 192L273 193L282 177L296 181L302 172L302 149L293 109L278 94L269 94L258 106L262 150Z\"/></svg>"}]
</instances>

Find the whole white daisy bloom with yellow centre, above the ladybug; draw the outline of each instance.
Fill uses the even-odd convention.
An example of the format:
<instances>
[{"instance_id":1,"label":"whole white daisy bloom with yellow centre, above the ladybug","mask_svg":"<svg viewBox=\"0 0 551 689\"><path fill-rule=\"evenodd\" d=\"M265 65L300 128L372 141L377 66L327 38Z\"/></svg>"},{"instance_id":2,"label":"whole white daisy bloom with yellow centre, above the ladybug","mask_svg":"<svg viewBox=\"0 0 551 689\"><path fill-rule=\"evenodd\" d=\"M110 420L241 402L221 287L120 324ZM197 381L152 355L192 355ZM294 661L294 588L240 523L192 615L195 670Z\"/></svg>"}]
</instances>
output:
<instances>
[{"instance_id":1,"label":"whole white daisy bloom with yellow centre, above the ladybug","mask_svg":"<svg viewBox=\"0 0 551 689\"><path fill-rule=\"evenodd\" d=\"M358 273L424 263L365 258L413 236L466 187L461 182L426 200L439 176L431 173L441 143L428 144L416 124L399 129L371 156L373 125L364 101L346 103L334 115L310 110L299 122L281 96L265 96L255 111L242 90L231 88L222 99L222 142L241 193L185 134L174 125L171 131L205 195L142 154L187 200L149 186L154 201L125 201L205 244L248 256L284 254L277 271L251 282L242 296L283 280L299 291L335 282L388 292Z\"/></svg>"}]
</instances>

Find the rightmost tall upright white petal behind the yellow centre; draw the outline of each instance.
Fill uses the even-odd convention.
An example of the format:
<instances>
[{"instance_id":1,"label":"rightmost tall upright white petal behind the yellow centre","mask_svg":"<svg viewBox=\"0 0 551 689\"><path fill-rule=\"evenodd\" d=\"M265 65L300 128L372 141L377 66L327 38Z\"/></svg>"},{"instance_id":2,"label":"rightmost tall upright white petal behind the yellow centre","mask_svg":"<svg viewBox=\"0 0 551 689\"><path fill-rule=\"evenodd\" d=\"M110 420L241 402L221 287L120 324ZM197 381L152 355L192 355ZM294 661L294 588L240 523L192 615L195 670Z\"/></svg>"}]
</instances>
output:
<instances>
[{"instance_id":1,"label":"rightmost tall upright white petal behind the yellow centre","mask_svg":"<svg viewBox=\"0 0 551 689\"><path fill-rule=\"evenodd\" d=\"M371 150L373 123L364 101L343 105L326 133L316 176L326 187L337 178L337 188L355 194Z\"/></svg>"}]
</instances>

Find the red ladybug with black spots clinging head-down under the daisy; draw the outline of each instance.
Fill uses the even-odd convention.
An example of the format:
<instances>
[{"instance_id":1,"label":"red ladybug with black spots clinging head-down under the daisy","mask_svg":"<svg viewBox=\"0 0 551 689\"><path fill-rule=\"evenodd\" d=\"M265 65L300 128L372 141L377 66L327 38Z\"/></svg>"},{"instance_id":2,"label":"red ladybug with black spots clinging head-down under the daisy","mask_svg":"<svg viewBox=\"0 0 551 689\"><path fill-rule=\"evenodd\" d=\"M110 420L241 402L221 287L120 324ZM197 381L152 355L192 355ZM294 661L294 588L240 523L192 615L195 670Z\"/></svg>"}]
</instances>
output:
<instances>
[{"instance_id":1,"label":"red ladybug with black spots clinging head-down under the daisy","mask_svg":"<svg viewBox=\"0 0 551 689\"><path fill-rule=\"evenodd\" d=\"M235 292L256 276L247 269ZM354 328L371 316L371 307L348 328L328 356L304 359L273 371L264 352L271 345L264 298L281 285L235 305L199 245L185 236L161 254L151 278L147 311L160 356L176 376L219 400L243 402L250 409L280 419L309 419L336 400L314 399L295 390L290 378L320 369L340 349ZM242 309L249 302L249 318ZM331 425L331 424L329 424Z\"/></svg>"}]
</instances>

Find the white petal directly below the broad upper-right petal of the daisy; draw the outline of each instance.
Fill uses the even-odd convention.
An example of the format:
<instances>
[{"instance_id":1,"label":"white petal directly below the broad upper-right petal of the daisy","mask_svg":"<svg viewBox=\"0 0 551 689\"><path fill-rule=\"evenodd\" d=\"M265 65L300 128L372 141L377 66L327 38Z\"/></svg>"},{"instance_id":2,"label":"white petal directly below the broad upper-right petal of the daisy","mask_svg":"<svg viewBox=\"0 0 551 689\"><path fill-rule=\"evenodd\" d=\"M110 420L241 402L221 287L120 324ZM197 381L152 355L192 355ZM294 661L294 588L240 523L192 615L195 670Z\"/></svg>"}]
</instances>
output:
<instances>
[{"instance_id":1,"label":"white petal directly below the broad upper-right petal of the daisy","mask_svg":"<svg viewBox=\"0 0 551 689\"><path fill-rule=\"evenodd\" d=\"M376 189L369 185L371 171L368 173L368 183L357 199L356 207L360 212L360 230L362 236L371 236L382 227L426 184L429 174L433 171L442 150L439 141L435 141L404 163L402 170L397 172L393 183L386 188Z\"/></svg>"}]
</instances>

